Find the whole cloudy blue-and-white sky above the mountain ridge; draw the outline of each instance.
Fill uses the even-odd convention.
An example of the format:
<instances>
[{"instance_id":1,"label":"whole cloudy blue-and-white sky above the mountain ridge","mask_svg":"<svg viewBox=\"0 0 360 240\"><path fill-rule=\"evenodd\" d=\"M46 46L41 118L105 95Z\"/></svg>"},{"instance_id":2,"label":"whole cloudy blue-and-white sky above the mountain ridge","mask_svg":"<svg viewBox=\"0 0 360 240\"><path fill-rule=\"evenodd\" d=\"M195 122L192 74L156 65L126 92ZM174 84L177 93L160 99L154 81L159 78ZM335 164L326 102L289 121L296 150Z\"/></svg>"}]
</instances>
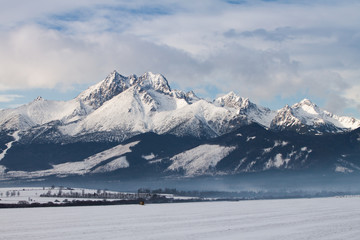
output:
<instances>
[{"instance_id":1,"label":"whole cloudy blue-and-white sky above the mountain ridge","mask_svg":"<svg viewBox=\"0 0 360 240\"><path fill-rule=\"evenodd\" d=\"M360 118L360 1L0 0L0 108L70 100L110 72L212 100L308 98Z\"/></svg>"}]
</instances>

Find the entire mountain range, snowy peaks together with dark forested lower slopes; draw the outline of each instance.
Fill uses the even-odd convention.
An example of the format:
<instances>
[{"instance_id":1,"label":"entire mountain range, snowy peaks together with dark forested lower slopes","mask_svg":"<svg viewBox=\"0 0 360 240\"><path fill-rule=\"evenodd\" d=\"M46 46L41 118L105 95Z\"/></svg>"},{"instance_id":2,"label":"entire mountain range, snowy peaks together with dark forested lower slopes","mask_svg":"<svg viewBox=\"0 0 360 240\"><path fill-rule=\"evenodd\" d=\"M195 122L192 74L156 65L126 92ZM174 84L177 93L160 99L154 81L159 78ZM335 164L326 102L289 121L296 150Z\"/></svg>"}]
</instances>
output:
<instances>
[{"instance_id":1,"label":"entire mountain range, snowy peaks together with dark forested lower slopes","mask_svg":"<svg viewBox=\"0 0 360 240\"><path fill-rule=\"evenodd\" d=\"M114 71L73 100L2 110L0 178L357 174L359 126L307 99L277 111L234 93L209 102L160 74Z\"/></svg>"}]
</instances>

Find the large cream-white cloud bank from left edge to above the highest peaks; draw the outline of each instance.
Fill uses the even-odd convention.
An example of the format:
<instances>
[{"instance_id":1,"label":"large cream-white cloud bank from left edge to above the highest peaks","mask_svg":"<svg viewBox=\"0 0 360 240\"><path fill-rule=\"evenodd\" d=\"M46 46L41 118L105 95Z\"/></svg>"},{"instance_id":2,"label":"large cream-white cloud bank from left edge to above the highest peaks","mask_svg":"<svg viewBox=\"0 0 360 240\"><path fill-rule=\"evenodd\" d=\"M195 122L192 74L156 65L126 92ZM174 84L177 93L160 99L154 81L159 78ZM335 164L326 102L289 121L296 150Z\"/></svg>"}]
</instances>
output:
<instances>
[{"instance_id":1,"label":"large cream-white cloud bank from left edge to above the highest peaks","mask_svg":"<svg viewBox=\"0 0 360 240\"><path fill-rule=\"evenodd\" d=\"M184 51L117 33L66 35L36 25L0 38L0 90L69 88L123 74L161 72L191 78L201 64ZM176 78L177 79L177 78Z\"/></svg>"}]
</instances>

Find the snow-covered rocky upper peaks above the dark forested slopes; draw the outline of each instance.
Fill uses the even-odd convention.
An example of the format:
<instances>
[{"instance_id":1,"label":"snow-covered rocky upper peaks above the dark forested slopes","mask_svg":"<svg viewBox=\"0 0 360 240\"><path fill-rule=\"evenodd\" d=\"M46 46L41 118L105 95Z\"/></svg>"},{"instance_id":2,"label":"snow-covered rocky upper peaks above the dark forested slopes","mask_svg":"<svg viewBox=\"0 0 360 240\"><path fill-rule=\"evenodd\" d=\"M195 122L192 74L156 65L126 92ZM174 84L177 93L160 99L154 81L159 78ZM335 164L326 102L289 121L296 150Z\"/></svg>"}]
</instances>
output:
<instances>
[{"instance_id":1,"label":"snow-covered rocky upper peaks above the dark forested slopes","mask_svg":"<svg viewBox=\"0 0 360 240\"><path fill-rule=\"evenodd\" d=\"M0 112L0 130L34 141L122 141L140 133L212 138L251 122L268 129L335 133L360 127L308 99L279 110L256 105L235 93L210 102L170 88L161 74L124 77L113 71L70 101L33 102Z\"/></svg>"}]
</instances>

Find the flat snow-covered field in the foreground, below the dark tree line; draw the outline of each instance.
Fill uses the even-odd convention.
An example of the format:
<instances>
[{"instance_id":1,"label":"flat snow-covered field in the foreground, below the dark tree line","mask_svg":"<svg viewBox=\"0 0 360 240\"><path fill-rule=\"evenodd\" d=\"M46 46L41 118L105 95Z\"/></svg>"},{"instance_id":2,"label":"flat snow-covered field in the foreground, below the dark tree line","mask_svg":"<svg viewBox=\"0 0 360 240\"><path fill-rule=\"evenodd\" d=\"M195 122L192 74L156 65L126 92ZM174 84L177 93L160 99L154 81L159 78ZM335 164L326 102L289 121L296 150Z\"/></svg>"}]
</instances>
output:
<instances>
[{"instance_id":1,"label":"flat snow-covered field in the foreground, below the dark tree line","mask_svg":"<svg viewBox=\"0 0 360 240\"><path fill-rule=\"evenodd\" d=\"M0 209L0 239L359 239L360 198Z\"/></svg>"}]
</instances>

